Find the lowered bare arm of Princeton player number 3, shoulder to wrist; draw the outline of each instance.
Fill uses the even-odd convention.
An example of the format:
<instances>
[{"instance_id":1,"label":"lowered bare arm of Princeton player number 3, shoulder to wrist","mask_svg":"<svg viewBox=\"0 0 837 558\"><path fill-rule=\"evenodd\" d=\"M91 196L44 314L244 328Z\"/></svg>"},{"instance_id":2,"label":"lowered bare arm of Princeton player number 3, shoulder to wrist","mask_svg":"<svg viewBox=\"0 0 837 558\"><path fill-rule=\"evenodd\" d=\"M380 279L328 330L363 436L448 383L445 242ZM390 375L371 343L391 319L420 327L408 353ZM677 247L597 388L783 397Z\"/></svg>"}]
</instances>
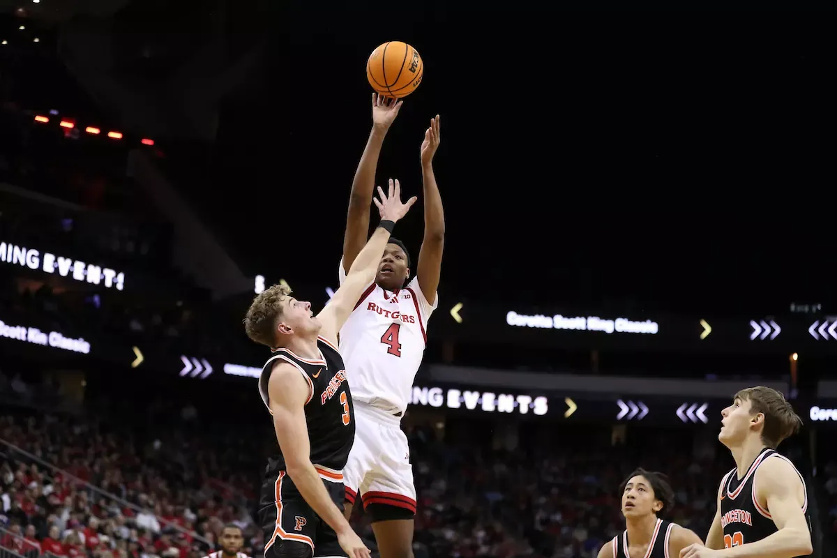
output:
<instances>
[{"instance_id":1,"label":"lowered bare arm of Princeton player number 3, shoulder to wrist","mask_svg":"<svg viewBox=\"0 0 837 558\"><path fill-rule=\"evenodd\" d=\"M311 463L305 412L311 387L306 377L289 363L275 364L268 382L270 412L288 476L308 505L339 534L351 528Z\"/></svg>"}]
</instances>

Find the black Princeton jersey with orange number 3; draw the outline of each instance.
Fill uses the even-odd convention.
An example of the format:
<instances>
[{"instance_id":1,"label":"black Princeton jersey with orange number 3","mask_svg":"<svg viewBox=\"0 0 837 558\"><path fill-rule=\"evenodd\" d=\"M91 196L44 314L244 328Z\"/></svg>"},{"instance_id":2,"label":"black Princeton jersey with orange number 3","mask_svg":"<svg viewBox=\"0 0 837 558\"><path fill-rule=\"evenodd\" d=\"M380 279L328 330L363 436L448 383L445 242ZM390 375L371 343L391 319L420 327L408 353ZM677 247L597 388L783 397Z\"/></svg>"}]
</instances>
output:
<instances>
[{"instance_id":1,"label":"black Princeton jersey with orange number 3","mask_svg":"<svg viewBox=\"0 0 837 558\"><path fill-rule=\"evenodd\" d=\"M355 441L355 415L352 392L346 381L346 368L335 346L319 337L317 348L321 358L311 361L300 358L287 349L274 351L259 376L259 393L270 411L268 381L277 361L293 365L305 377L311 394L306 402L306 423L311 443L311 463L318 468L341 471L346 466L349 451ZM285 470L281 451L268 461L268 474ZM323 472L321 471L321 474Z\"/></svg>"}]
</instances>

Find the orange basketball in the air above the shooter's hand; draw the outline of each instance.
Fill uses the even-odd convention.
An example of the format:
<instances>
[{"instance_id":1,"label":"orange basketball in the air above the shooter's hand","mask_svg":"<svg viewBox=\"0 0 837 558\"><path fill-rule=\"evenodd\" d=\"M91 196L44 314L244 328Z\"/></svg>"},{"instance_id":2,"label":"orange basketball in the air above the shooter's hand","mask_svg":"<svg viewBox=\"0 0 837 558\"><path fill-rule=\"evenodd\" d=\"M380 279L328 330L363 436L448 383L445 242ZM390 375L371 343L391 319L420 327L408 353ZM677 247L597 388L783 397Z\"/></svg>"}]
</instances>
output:
<instances>
[{"instance_id":1,"label":"orange basketball in the air above the shooter's hand","mask_svg":"<svg viewBox=\"0 0 837 558\"><path fill-rule=\"evenodd\" d=\"M367 61L367 79L381 95L400 99L413 93L424 75L419 51L401 41L390 41L372 51Z\"/></svg>"}]
</instances>

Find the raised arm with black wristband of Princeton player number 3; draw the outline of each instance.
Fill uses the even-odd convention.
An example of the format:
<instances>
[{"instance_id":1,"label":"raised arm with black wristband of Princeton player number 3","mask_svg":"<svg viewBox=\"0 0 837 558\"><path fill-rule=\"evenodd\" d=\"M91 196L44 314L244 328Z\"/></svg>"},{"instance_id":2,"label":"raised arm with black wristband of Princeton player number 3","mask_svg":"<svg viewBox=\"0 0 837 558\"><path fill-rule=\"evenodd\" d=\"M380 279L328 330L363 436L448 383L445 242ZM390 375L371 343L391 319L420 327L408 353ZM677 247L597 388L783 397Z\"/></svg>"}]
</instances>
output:
<instances>
[{"instance_id":1,"label":"raised arm with black wristband of Princeton player number 3","mask_svg":"<svg viewBox=\"0 0 837 558\"><path fill-rule=\"evenodd\" d=\"M320 335L335 345L337 332L352 314L357 300L363 294L363 289L375 280L378 265L381 264L381 258L383 258L383 250L387 248L389 234L392 232L392 225L403 218L416 202L416 197L411 197L407 203L401 202L401 185L398 181L389 181L388 196L384 195L380 187L377 192L381 196L381 201L375 199L373 201L381 212L381 226L375 229L372 238L369 238L366 246L357 254L340 289L337 289L326 307L317 315L322 325ZM387 222L391 224L387 225Z\"/></svg>"}]
</instances>

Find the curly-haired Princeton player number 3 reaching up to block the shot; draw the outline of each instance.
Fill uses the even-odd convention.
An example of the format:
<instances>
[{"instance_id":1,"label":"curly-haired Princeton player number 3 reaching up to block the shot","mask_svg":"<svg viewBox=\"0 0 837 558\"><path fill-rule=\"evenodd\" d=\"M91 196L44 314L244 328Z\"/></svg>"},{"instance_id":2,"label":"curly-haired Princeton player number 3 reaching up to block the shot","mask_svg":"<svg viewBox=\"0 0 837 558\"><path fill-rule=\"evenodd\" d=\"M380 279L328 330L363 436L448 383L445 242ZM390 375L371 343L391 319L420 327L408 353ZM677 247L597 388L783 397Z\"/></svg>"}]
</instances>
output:
<instances>
[{"instance_id":1,"label":"curly-haired Princeton player number 3 reaching up to block the shot","mask_svg":"<svg viewBox=\"0 0 837 558\"><path fill-rule=\"evenodd\" d=\"M320 314L274 285L255 297L244 318L249 338L275 353L259 377L280 448L268 461L260 499L265 558L370 555L343 516L342 468L354 442L355 416L336 340L374 279L395 222L416 201L403 204L392 181L388 197L378 192L381 223Z\"/></svg>"}]
</instances>

